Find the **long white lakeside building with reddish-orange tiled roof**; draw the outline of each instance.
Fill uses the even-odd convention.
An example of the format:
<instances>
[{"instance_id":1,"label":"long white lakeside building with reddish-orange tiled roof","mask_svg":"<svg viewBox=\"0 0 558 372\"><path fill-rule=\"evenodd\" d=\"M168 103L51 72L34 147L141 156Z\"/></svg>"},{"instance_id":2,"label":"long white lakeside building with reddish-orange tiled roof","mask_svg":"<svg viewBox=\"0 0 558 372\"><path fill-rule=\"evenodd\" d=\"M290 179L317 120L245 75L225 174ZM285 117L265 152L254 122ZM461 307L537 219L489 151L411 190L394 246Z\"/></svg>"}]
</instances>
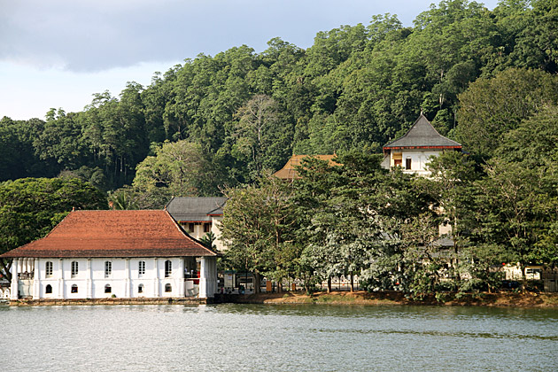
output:
<instances>
[{"instance_id":1,"label":"long white lakeside building with reddish-orange tiled roof","mask_svg":"<svg viewBox=\"0 0 558 372\"><path fill-rule=\"evenodd\" d=\"M212 298L218 253L167 211L74 211L12 259L11 299Z\"/></svg>"}]
</instances>

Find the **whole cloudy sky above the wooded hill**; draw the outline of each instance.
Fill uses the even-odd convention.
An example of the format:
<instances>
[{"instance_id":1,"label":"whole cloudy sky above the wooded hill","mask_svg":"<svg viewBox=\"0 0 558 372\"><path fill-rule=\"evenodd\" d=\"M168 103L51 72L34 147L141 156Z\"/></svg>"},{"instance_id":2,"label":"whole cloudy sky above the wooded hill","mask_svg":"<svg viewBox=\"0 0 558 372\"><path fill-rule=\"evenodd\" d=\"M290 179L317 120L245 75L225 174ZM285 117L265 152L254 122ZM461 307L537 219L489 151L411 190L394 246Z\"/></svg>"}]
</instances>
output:
<instances>
[{"instance_id":1,"label":"whole cloudy sky above the wooded hill","mask_svg":"<svg viewBox=\"0 0 558 372\"><path fill-rule=\"evenodd\" d=\"M404 26L431 0L0 0L0 118L78 112L94 93L118 97L199 53L280 37L300 48L319 31L397 14ZM493 9L498 0L479 1Z\"/></svg>"}]
</instances>

